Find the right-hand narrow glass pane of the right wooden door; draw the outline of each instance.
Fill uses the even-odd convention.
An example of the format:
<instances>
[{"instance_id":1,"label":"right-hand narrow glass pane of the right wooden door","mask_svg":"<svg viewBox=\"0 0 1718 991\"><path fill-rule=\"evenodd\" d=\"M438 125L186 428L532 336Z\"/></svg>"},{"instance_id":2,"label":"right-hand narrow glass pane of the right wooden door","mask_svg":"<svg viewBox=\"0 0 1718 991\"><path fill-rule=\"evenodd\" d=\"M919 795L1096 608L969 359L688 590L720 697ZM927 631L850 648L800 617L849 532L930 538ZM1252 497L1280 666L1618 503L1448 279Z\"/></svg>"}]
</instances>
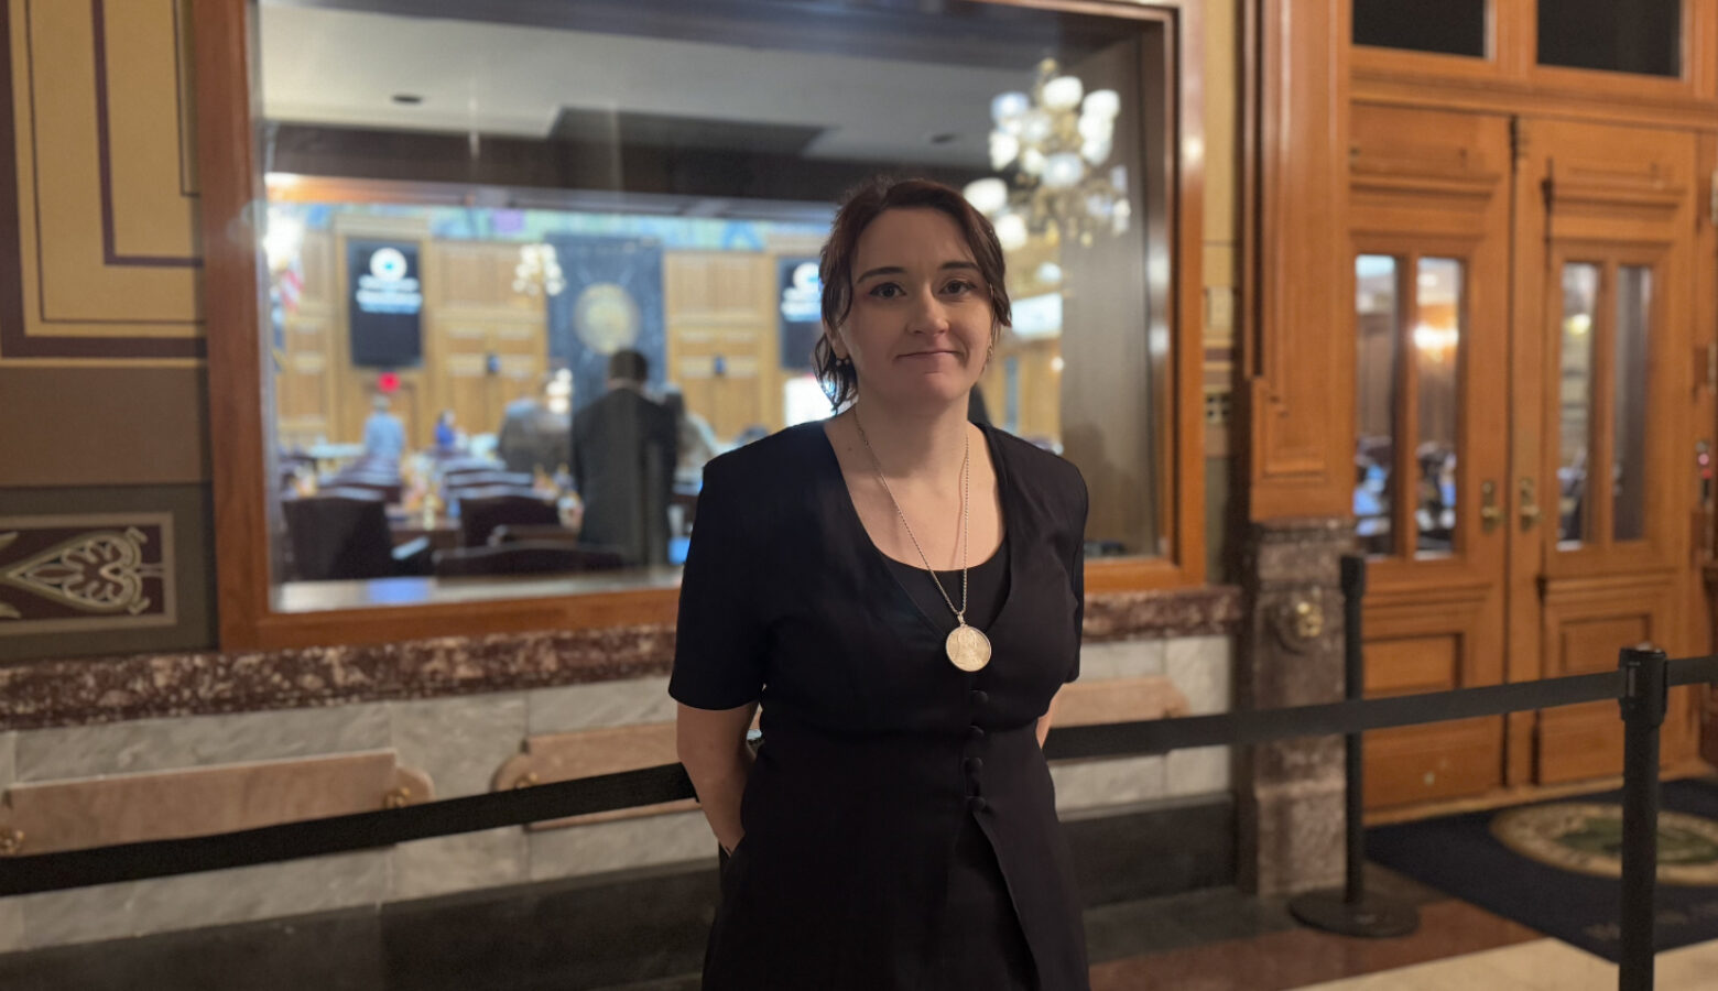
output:
<instances>
[{"instance_id":1,"label":"right-hand narrow glass pane of the right wooden door","mask_svg":"<svg viewBox=\"0 0 1718 991\"><path fill-rule=\"evenodd\" d=\"M1653 270L1617 270L1617 400L1611 404L1613 538L1646 536L1646 347L1653 316Z\"/></svg>"}]
</instances>

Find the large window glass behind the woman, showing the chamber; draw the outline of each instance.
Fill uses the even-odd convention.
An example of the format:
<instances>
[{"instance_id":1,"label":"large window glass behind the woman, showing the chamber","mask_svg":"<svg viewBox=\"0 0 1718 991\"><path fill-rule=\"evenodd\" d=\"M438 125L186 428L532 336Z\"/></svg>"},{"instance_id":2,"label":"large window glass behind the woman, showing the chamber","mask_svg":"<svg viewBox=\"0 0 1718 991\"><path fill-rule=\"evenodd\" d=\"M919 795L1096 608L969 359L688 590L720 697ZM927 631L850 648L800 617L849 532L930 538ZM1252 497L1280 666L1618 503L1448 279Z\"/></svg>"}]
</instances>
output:
<instances>
[{"instance_id":1,"label":"large window glass behind the woman, showing the chamber","mask_svg":"<svg viewBox=\"0 0 1718 991\"><path fill-rule=\"evenodd\" d=\"M1170 33L928 10L263 0L268 608L672 587L703 464L830 414L816 252L878 173L1003 240L972 416L1081 467L1089 560L1173 560Z\"/></svg>"}]
</instances>

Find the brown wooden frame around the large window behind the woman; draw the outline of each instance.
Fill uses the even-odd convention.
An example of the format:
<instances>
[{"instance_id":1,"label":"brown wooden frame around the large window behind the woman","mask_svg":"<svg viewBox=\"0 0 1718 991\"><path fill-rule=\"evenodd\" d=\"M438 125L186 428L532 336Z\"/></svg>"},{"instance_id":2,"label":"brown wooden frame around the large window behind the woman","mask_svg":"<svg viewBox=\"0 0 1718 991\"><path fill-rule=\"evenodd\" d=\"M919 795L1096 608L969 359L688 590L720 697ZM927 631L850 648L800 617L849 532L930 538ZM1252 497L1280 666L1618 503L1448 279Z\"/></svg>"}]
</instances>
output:
<instances>
[{"instance_id":1,"label":"brown wooden frame around the large window behind the woman","mask_svg":"<svg viewBox=\"0 0 1718 991\"><path fill-rule=\"evenodd\" d=\"M1153 285L1148 325L1170 328L1160 424L1167 443L1161 486L1165 558L1094 560L1089 591L1139 591L1204 582L1203 435L1203 33L1196 0L1156 3L1108 0L981 0L1014 7L1125 17L1158 24L1167 45L1146 69L1165 100L1144 101L1148 134L1148 223L1153 247L1173 258L1168 283ZM266 280L258 223L266 211L258 156L259 82L254 0L192 0L198 76L198 161L203 177L204 314L208 319L208 416L213 450L216 606L222 649L283 649L369 644L443 635L548 629L672 625L677 589L467 603L423 603L314 613L271 605L265 484L265 371L259 316ZM1154 53L1148 52L1148 58ZM1148 91L1149 94L1149 91ZM1158 131L1154 125L1161 125ZM1148 198L1153 196L1148 192ZM1141 333L1146 326L1141 326Z\"/></svg>"}]
</instances>

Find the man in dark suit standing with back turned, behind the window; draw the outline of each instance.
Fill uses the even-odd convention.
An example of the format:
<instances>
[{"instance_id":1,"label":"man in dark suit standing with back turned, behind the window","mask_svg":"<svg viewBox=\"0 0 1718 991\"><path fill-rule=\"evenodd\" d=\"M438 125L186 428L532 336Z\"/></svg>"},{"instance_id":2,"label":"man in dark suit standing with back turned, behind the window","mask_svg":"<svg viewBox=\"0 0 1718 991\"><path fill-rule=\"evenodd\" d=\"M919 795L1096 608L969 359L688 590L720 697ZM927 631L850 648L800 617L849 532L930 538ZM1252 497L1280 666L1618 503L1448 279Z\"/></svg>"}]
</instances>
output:
<instances>
[{"instance_id":1,"label":"man in dark suit standing with back turned, behind the window","mask_svg":"<svg viewBox=\"0 0 1718 991\"><path fill-rule=\"evenodd\" d=\"M572 417L572 484L584 500L579 543L615 550L629 565L668 562L679 431L668 407L644 395L648 378L643 354L617 350L608 392Z\"/></svg>"}]
</instances>

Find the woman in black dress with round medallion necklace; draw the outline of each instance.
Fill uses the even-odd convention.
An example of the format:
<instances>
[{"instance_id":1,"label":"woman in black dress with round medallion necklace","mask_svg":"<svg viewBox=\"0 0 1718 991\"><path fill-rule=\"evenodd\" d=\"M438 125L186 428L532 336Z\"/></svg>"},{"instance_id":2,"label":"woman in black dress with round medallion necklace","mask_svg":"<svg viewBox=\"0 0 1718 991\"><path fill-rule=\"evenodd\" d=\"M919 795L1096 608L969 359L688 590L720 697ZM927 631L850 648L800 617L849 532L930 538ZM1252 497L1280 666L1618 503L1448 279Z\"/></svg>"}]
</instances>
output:
<instances>
[{"instance_id":1,"label":"woman in black dress with round medallion necklace","mask_svg":"<svg viewBox=\"0 0 1718 991\"><path fill-rule=\"evenodd\" d=\"M876 182L821 277L842 412L706 465L680 589L680 761L730 854L704 988L1082 989L1039 747L1079 673L1086 484L967 423L1002 247L953 189Z\"/></svg>"}]
</instances>

